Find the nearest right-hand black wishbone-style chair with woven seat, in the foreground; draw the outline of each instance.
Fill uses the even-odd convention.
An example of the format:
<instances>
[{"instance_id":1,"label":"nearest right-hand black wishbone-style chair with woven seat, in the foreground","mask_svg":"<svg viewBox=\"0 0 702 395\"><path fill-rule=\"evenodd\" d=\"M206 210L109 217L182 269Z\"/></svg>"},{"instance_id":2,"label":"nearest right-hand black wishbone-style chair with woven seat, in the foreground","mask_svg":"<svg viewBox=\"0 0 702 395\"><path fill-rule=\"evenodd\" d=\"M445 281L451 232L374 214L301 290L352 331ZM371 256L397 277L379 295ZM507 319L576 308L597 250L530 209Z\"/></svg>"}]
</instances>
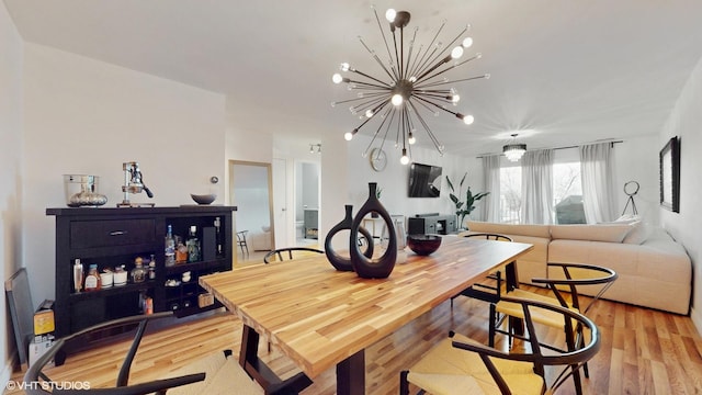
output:
<instances>
[{"instance_id":1,"label":"nearest right-hand black wishbone-style chair with woven seat, in the foreground","mask_svg":"<svg viewBox=\"0 0 702 395\"><path fill-rule=\"evenodd\" d=\"M535 300L502 300L522 309L528 334L523 351L498 350L452 332L409 370L400 372L399 393L408 395L412 384L421 388L420 394L434 395L551 394L599 351L599 329L585 315ZM558 317L571 331L574 326L581 327L582 340L544 331L532 319L541 311ZM576 347L575 341L581 347Z\"/></svg>"}]
</instances>

